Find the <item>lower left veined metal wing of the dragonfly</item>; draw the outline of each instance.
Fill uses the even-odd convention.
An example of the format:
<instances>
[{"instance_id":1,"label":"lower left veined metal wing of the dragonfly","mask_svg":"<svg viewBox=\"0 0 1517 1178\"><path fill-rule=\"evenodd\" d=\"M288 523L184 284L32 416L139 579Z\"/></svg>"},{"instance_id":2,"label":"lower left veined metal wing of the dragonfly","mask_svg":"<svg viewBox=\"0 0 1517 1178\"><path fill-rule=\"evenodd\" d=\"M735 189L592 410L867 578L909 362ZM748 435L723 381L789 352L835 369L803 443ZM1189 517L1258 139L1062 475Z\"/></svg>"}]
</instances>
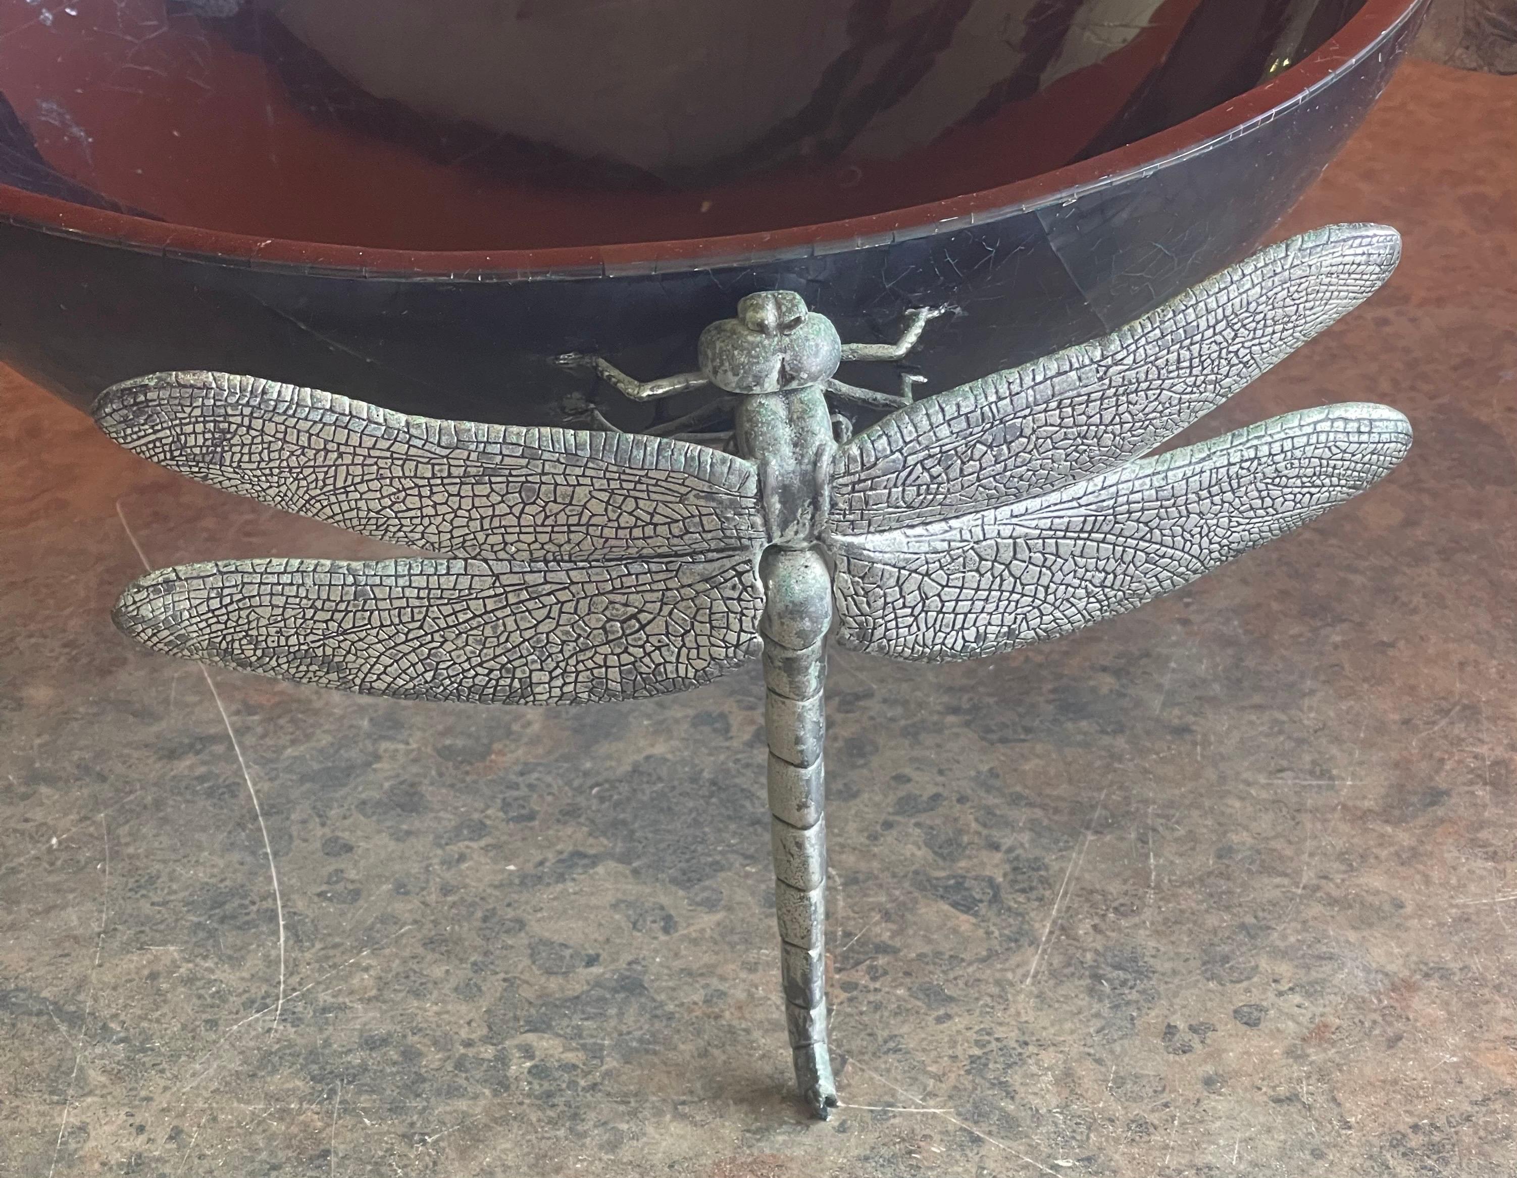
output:
<instances>
[{"instance_id":1,"label":"lower left veined metal wing of the dragonfly","mask_svg":"<svg viewBox=\"0 0 1517 1178\"><path fill-rule=\"evenodd\" d=\"M748 553L545 568L232 560L127 586L117 625L165 654L402 700L596 703L757 654Z\"/></svg>"}]
</instances>

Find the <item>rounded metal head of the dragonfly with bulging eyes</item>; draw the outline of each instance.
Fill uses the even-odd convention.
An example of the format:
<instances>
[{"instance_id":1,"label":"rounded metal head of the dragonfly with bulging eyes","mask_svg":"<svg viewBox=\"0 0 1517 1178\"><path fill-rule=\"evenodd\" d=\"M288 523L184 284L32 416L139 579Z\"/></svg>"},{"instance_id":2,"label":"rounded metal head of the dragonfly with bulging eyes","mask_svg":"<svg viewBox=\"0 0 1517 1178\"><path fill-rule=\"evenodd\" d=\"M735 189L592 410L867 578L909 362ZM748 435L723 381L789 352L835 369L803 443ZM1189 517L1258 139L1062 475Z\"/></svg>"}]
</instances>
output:
<instances>
[{"instance_id":1,"label":"rounded metal head of the dragonfly with bulging eyes","mask_svg":"<svg viewBox=\"0 0 1517 1178\"><path fill-rule=\"evenodd\" d=\"M701 332L701 372L728 393L781 393L821 384L837 370L833 322L793 290L765 290L737 304L737 317Z\"/></svg>"}]
</instances>

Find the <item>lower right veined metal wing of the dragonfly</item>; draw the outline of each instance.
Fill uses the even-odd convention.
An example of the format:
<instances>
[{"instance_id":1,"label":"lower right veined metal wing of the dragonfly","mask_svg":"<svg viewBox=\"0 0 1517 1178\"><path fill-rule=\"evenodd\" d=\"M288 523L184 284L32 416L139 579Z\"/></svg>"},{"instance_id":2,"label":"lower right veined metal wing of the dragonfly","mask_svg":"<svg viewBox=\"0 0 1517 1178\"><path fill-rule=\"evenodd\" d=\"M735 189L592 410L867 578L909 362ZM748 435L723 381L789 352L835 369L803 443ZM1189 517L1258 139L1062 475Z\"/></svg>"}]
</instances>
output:
<instances>
[{"instance_id":1,"label":"lower right veined metal wing of the dragonfly","mask_svg":"<svg viewBox=\"0 0 1517 1178\"><path fill-rule=\"evenodd\" d=\"M1022 502L834 537L837 639L936 662L1066 635L1315 519L1409 446L1396 410L1329 405Z\"/></svg>"}]
</instances>

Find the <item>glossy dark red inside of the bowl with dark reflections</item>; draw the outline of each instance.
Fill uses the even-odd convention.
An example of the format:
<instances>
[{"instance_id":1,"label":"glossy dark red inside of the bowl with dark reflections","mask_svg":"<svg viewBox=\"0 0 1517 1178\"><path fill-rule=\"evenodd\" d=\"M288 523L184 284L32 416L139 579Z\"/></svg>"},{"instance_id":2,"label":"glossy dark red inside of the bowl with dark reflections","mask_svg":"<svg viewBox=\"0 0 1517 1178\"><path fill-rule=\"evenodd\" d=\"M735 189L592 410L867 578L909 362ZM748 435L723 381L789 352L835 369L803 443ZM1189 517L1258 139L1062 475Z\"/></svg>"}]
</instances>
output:
<instances>
[{"instance_id":1,"label":"glossy dark red inside of the bowl with dark reflections","mask_svg":"<svg viewBox=\"0 0 1517 1178\"><path fill-rule=\"evenodd\" d=\"M0 181L410 250L749 234L1012 184L1364 0L0 0Z\"/></svg>"}]
</instances>

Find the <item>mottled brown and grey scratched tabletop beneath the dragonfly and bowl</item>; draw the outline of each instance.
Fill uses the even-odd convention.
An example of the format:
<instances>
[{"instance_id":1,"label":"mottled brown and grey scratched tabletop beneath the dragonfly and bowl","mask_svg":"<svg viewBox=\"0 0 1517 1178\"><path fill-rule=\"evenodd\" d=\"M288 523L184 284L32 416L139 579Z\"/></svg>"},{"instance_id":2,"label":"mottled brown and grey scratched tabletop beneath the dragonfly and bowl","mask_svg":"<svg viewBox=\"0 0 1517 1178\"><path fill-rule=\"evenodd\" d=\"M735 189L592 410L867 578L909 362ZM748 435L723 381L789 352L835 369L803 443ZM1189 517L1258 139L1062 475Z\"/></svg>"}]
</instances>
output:
<instances>
[{"instance_id":1,"label":"mottled brown and grey scratched tabletop beneath the dragonfly and bowl","mask_svg":"<svg viewBox=\"0 0 1517 1178\"><path fill-rule=\"evenodd\" d=\"M1396 223L1402 272L1206 424L1385 399L1405 468L1056 645L836 657L830 1125L787 1091L757 672L218 703L111 628L133 543L373 546L8 378L0 1172L1511 1175L1514 196L1517 83L1408 65L1288 226Z\"/></svg>"}]
</instances>

